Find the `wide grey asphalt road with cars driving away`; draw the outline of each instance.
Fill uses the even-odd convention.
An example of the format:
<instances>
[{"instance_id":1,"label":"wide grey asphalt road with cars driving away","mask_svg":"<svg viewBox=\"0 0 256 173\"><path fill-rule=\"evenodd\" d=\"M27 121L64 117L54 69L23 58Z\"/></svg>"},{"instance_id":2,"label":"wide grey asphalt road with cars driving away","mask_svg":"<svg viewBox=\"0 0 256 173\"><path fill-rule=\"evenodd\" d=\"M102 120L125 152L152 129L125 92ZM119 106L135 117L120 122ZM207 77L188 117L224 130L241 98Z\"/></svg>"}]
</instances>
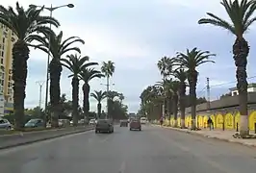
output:
<instances>
[{"instance_id":1,"label":"wide grey asphalt road with cars driving away","mask_svg":"<svg viewBox=\"0 0 256 173\"><path fill-rule=\"evenodd\" d=\"M87 132L0 151L5 173L247 173L256 149L144 126L114 134Z\"/></svg>"}]
</instances>

